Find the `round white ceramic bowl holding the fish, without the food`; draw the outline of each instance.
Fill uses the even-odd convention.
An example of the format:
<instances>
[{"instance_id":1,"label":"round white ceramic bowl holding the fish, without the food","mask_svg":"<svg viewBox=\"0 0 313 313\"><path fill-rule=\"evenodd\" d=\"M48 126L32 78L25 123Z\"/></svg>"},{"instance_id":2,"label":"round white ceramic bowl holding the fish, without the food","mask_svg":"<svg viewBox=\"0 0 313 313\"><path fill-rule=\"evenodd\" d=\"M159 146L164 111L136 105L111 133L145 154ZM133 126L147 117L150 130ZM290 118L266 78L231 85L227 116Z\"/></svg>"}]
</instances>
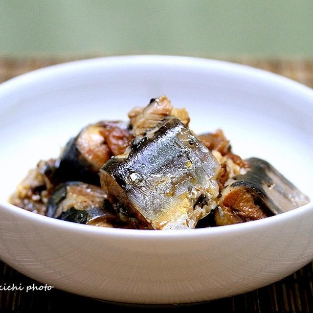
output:
<instances>
[{"instance_id":1,"label":"round white ceramic bowl holding the fish, without the food","mask_svg":"<svg viewBox=\"0 0 313 313\"><path fill-rule=\"evenodd\" d=\"M8 196L90 122L125 119L165 94L197 133L268 160L313 199L313 90L221 61L120 56L39 69L0 86L0 258L60 290L124 303L207 301L273 283L313 259L313 204L264 220L180 231L112 229L40 216Z\"/></svg>"}]
</instances>

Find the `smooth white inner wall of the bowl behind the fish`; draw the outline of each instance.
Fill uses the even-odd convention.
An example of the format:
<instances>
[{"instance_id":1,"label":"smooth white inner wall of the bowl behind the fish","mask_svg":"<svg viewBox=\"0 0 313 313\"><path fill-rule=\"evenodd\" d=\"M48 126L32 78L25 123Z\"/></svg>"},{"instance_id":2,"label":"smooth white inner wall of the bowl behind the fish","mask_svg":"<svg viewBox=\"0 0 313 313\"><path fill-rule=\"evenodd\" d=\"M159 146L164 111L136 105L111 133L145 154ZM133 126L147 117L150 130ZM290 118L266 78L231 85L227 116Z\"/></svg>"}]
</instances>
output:
<instances>
[{"instance_id":1,"label":"smooth white inner wall of the bowl behind the fish","mask_svg":"<svg viewBox=\"0 0 313 313\"><path fill-rule=\"evenodd\" d=\"M187 109L196 133L222 129L234 153L268 160L313 199L311 89L222 61L124 56L52 66L2 84L0 201L82 127L128 120L134 106L161 94Z\"/></svg>"}]
</instances>

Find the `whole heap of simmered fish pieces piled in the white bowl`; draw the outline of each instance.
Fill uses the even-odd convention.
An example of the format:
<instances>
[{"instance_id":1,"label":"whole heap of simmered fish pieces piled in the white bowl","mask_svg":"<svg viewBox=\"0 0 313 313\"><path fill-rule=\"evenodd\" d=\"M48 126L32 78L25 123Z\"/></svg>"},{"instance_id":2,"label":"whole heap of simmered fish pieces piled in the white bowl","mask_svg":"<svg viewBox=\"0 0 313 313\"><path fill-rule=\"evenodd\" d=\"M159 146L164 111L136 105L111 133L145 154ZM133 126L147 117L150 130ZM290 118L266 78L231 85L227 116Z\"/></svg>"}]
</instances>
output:
<instances>
[{"instance_id":1,"label":"whole heap of simmered fish pieces piled in the white bowl","mask_svg":"<svg viewBox=\"0 0 313 313\"><path fill-rule=\"evenodd\" d=\"M84 127L9 202L69 222L162 230L243 223L309 202L267 161L234 154L222 130L195 134L164 95L128 117Z\"/></svg>"}]
</instances>

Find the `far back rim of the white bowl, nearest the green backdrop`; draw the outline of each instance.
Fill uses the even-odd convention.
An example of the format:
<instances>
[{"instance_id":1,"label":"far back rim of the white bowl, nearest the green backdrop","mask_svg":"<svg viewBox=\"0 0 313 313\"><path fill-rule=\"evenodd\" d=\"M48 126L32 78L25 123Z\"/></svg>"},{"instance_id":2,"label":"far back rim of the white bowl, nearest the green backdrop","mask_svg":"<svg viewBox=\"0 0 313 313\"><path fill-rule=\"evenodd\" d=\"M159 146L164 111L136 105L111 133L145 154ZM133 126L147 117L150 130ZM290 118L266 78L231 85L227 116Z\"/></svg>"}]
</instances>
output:
<instances>
[{"instance_id":1,"label":"far back rim of the white bowl, nearest the green backdrop","mask_svg":"<svg viewBox=\"0 0 313 313\"><path fill-rule=\"evenodd\" d=\"M284 84L285 87L296 89L303 95L310 98L313 96L313 89L289 77L270 72L266 69L253 67L250 65L236 63L234 61L225 61L212 58L183 56L183 55L167 55L167 54L130 54L130 55L112 55L102 57L90 57L86 59L78 59L72 61L61 62L45 67L30 70L15 77L12 77L0 83L0 96L2 93L9 92L24 84L36 83L42 79L58 76L67 73L68 70L87 69L90 67L106 67L116 66L138 66L138 65L167 65L167 66L183 66L183 67L202 67L205 69L219 69L224 72L241 73L241 75L253 76L265 82L273 82Z\"/></svg>"}]
</instances>

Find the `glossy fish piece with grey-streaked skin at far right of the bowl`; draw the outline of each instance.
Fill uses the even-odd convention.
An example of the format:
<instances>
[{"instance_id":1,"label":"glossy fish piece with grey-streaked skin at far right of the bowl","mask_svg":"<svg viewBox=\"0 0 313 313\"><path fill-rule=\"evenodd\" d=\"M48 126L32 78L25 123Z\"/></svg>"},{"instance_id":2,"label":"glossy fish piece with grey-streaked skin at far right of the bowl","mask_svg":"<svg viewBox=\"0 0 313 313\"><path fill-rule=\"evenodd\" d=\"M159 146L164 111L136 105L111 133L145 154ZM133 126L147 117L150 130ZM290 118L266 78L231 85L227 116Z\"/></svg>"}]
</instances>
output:
<instances>
[{"instance_id":1,"label":"glossy fish piece with grey-streaked skin at far right of the bowl","mask_svg":"<svg viewBox=\"0 0 313 313\"><path fill-rule=\"evenodd\" d=\"M215 211L217 225L237 224L290 211L309 202L288 179L267 161L251 157L249 170L236 175L221 190Z\"/></svg>"}]
</instances>

